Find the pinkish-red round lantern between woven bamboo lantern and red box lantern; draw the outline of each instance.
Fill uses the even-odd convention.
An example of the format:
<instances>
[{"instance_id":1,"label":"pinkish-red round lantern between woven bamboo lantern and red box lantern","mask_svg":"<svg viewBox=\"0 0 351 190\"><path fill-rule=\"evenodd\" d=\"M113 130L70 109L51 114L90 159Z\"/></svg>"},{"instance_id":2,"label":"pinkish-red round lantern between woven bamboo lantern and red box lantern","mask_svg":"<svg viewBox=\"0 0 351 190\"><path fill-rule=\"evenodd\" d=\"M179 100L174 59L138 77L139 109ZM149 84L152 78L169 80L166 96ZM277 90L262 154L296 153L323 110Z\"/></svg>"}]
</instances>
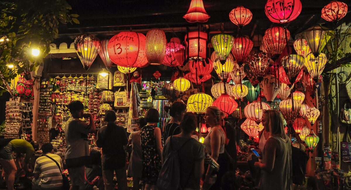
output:
<instances>
[{"instance_id":1,"label":"pinkish-red round lantern between woven bamboo lantern and red box lantern","mask_svg":"<svg viewBox=\"0 0 351 190\"><path fill-rule=\"evenodd\" d=\"M175 40L175 39L173 39ZM177 39L176 41L178 41ZM185 47L181 45L180 43L176 41L171 41L166 43L166 54L164 57L164 60L162 62L163 65L170 66L170 67L176 67L178 65L183 64L183 62L178 62L176 59L176 52L179 50L185 50ZM179 40L180 41L180 40Z\"/></svg>"}]
</instances>

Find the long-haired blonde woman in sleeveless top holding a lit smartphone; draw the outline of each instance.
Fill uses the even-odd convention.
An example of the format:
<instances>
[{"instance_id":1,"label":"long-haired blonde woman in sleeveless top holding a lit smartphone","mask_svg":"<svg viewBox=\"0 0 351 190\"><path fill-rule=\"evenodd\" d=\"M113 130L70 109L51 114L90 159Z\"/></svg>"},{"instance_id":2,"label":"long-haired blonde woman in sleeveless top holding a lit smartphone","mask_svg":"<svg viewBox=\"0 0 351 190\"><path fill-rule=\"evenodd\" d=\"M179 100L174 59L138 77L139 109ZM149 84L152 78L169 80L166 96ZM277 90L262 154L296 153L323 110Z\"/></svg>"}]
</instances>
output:
<instances>
[{"instance_id":1,"label":"long-haired blonde woman in sleeveless top holding a lit smartphone","mask_svg":"<svg viewBox=\"0 0 351 190\"><path fill-rule=\"evenodd\" d=\"M260 189L291 190L291 142L285 134L283 118L277 110L266 110L262 124L271 136L264 146L262 163L255 162L261 169Z\"/></svg>"}]
</instances>

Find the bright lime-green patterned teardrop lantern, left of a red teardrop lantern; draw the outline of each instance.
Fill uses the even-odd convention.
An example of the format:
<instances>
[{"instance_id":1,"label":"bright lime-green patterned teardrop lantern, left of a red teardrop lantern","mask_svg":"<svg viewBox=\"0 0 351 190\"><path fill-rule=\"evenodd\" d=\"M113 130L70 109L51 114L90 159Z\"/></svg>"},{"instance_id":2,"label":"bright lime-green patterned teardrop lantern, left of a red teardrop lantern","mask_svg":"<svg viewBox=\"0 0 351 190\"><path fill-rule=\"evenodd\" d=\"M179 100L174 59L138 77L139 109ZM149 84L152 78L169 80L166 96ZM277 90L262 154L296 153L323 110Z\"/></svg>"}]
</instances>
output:
<instances>
[{"instance_id":1,"label":"bright lime-green patterned teardrop lantern, left of a red teardrop lantern","mask_svg":"<svg viewBox=\"0 0 351 190\"><path fill-rule=\"evenodd\" d=\"M233 47L234 37L229 34L217 34L211 38L212 46L222 65L225 63Z\"/></svg>"}]
</instances>

